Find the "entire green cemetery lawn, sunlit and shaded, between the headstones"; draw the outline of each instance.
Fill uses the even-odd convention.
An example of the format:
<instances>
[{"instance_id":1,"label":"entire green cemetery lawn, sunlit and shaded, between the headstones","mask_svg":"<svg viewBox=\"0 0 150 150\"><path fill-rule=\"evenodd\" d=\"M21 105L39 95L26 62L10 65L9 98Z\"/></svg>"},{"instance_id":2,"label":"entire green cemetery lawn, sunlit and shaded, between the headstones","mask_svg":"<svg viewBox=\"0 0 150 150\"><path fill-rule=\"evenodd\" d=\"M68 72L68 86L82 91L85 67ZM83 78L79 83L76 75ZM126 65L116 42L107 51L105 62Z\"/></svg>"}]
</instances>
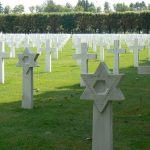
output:
<instances>
[{"instance_id":1,"label":"entire green cemetery lawn, sunlit and shaded, between the headstones","mask_svg":"<svg viewBox=\"0 0 150 150\"><path fill-rule=\"evenodd\" d=\"M126 45L123 45L126 48ZM35 51L35 49L33 49ZM17 49L17 53L23 49ZM80 100L80 69L72 59L71 40L45 72L45 53L34 68L34 108L21 109L22 68L15 59L5 60L5 84L0 85L0 150L91 150L92 101ZM91 49L90 49L90 52ZM99 54L99 52L97 53ZM113 55L105 52L112 71ZM148 64L147 49L140 65ZM89 61L94 73L98 60ZM113 102L114 150L150 149L150 76L138 75L133 54L120 56L120 84L126 99Z\"/></svg>"}]
</instances>

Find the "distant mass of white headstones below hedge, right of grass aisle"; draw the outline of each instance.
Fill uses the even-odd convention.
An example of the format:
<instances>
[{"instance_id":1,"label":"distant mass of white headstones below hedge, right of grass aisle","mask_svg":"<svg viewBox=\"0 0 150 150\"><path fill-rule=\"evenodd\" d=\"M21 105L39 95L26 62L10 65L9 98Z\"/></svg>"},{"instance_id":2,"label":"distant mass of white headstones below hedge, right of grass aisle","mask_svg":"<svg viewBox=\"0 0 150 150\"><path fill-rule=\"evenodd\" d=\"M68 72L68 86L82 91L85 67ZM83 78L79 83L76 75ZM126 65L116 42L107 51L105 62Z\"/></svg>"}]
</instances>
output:
<instances>
[{"instance_id":1,"label":"distant mass of white headstones below hedge, right of grass aisle","mask_svg":"<svg viewBox=\"0 0 150 150\"><path fill-rule=\"evenodd\" d=\"M137 41L135 41L137 39ZM126 44L130 52L133 53L131 47L138 42L139 46L148 48L148 60L150 61L150 35L149 34L74 34L72 38L73 47L76 53L80 52L80 43L88 43L94 52L97 48L103 51L104 47L110 49L114 40L119 40Z\"/></svg>"}]
</instances>

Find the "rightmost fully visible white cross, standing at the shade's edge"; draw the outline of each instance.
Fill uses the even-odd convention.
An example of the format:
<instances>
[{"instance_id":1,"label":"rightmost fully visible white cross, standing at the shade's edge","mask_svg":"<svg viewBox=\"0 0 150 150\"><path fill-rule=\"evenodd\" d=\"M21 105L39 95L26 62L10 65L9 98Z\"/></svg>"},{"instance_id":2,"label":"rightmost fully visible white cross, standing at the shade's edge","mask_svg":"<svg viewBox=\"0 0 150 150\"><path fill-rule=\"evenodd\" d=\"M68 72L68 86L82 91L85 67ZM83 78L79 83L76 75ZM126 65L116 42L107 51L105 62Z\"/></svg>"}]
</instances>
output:
<instances>
[{"instance_id":1,"label":"rightmost fully visible white cross, standing at the shade's edge","mask_svg":"<svg viewBox=\"0 0 150 150\"><path fill-rule=\"evenodd\" d=\"M138 39L134 40L133 46L130 46L129 49L132 49L134 52L134 67L139 66L139 51L142 50L144 46L140 46Z\"/></svg>"}]
</instances>

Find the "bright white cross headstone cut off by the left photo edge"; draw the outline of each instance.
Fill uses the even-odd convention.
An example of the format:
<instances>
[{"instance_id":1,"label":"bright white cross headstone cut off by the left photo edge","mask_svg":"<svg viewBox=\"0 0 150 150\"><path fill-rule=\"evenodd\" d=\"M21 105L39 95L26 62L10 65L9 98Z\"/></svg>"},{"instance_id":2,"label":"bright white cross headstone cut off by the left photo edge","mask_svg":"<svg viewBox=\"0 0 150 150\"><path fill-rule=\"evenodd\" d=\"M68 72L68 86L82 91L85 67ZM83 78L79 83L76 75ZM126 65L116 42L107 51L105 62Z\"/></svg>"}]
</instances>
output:
<instances>
[{"instance_id":1,"label":"bright white cross headstone cut off by the left photo edge","mask_svg":"<svg viewBox=\"0 0 150 150\"><path fill-rule=\"evenodd\" d=\"M4 59L12 58L12 53L5 52L5 43L0 42L0 83L4 84Z\"/></svg>"}]
</instances>

